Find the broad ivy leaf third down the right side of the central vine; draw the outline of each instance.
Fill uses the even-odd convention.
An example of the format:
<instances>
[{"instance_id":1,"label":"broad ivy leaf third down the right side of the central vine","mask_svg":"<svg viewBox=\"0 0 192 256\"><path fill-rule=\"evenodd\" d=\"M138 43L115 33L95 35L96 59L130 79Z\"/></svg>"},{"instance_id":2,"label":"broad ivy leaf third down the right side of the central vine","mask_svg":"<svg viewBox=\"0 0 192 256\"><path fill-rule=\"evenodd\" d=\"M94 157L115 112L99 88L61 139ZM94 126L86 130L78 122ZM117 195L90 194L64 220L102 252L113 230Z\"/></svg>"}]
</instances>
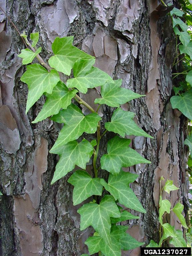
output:
<instances>
[{"instance_id":1,"label":"broad ivy leaf third down the right side of the central vine","mask_svg":"<svg viewBox=\"0 0 192 256\"><path fill-rule=\"evenodd\" d=\"M107 152L101 157L101 168L118 174L121 167L129 167L139 163L151 163L134 149L129 147L131 140L115 136L107 143Z\"/></svg>"}]
</instances>

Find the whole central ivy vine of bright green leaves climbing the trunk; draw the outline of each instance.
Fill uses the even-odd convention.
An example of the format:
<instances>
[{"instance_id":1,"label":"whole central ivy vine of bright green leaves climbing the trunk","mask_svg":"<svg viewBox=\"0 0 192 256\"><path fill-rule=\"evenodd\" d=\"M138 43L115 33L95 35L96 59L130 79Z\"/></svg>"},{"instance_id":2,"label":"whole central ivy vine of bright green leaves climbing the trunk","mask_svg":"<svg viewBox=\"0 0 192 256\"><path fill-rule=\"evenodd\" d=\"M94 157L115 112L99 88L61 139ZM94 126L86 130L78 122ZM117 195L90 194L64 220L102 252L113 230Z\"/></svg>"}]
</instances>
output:
<instances>
[{"instance_id":1,"label":"whole central ivy vine of bright green leaves climbing the trunk","mask_svg":"<svg viewBox=\"0 0 192 256\"><path fill-rule=\"evenodd\" d=\"M22 36L30 46L27 36L25 34ZM23 64L29 64L35 57L40 59L41 49L36 49L39 33L32 33L30 38L31 50L22 50L19 55L23 58ZM25 82L29 89L26 112L43 94L46 96L45 104L33 123L51 117L51 120L64 124L50 150L50 153L58 154L60 157L51 184L71 172L75 165L81 168L73 172L68 182L74 186L74 205L82 203L91 196L95 198L78 209L81 215L80 229L84 230L92 226L96 231L85 244L90 254L98 252L99 255L104 256L120 256L121 250L131 250L143 243L125 232L128 226L117 224L139 218L121 208L119 203L124 207L145 213L145 209L130 188L130 183L135 181L137 175L124 172L122 167L150 163L130 148L131 140L124 137L125 135L152 137L135 124L134 113L123 111L119 107L120 104L144 95L121 88L121 80L112 80L107 73L93 67L95 58L74 47L72 42L73 37L57 37L54 40L52 44L54 56L48 60L53 69L49 66L46 69L47 64L42 62L40 63L44 67L40 64L27 66L27 71L21 77L21 81ZM73 69L73 78L69 78L65 85L60 80L58 72L70 75L71 69ZM101 86L102 98L96 99L95 103L117 107L111 122L105 124L106 130L103 134L100 128L101 117L77 94L86 93L88 88L96 86ZM77 103L74 104L75 101L78 106ZM86 106L92 113L84 115L81 105ZM107 154L101 157L101 168L110 173L108 181L105 181L98 178L96 162L100 140L107 131L117 133L123 138L117 135L110 139L107 143ZM97 133L97 141L86 140L82 137L85 133ZM86 171L86 164L92 155L94 177ZM97 196L102 195L104 188L111 195L105 195L99 202Z\"/></svg>"}]
</instances>

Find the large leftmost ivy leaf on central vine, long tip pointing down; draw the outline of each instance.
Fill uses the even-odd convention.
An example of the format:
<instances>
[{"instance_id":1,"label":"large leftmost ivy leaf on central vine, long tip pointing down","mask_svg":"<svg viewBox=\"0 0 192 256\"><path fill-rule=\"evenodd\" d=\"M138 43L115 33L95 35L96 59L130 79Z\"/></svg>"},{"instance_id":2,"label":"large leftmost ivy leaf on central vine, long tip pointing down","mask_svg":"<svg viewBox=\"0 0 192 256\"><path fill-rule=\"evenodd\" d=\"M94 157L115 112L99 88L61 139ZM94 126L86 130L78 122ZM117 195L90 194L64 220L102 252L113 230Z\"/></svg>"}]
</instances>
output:
<instances>
[{"instance_id":1,"label":"large leftmost ivy leaf on central vine, long tip pointing down","mask_svg":"<svg viewBox=\"0 0 192 256\"><path fill-rule=\"evenodd\" d=\"M28 85L29 90L26 113L44 92L52 93L59 80L59 74L54 69L48 72L39 64L28 65L27 71L21 77L21 81Z\"/></svg>"}]
</instances>

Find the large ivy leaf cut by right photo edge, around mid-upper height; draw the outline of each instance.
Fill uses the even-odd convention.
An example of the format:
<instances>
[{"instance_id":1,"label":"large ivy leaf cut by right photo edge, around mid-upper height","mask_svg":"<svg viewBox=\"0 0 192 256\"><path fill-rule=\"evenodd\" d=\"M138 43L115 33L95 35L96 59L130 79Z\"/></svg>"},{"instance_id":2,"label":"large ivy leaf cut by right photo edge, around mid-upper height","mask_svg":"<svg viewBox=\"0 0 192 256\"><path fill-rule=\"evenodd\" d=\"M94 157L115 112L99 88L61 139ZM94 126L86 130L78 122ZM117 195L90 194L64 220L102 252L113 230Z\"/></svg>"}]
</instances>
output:
<instances>
[{"instance_id":1,"label":"large ivy leaf cut by right photo edge, around mid-upper height","mask_svg":"<svg viewBox=\"0 0 192 256\"><path fill-rule=\"evenodd\" d=\"M187 91L181 96L170 99L172 108L178 108L187 118L192 120L192 91Z\"/></svg>"}]
</instances>

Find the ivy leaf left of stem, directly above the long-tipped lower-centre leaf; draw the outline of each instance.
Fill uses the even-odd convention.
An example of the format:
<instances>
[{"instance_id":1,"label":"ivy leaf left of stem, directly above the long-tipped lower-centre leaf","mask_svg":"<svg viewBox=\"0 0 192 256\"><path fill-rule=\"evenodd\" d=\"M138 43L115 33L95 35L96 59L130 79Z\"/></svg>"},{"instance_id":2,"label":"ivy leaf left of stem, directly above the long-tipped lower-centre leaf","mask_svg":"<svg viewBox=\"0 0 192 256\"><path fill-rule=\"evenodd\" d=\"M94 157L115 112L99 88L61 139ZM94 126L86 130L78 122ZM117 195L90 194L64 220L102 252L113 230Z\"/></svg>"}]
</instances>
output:
<instances>
[{"instance_id":1,"label":"ivy leaf left of stem, directly above the long-tipped lower-centre leaf","mask_svg":"<svg viewBox=\"0 0 192 256\"><path fill-rule=\"evenodd\" d=\"M74 186L73 189L73 205L80 204L92 195L101 196L103 186L99 178L91 178L91 176L83 170L77 170L68 179L68 182Z\"/></svg>"}]
</instances>

